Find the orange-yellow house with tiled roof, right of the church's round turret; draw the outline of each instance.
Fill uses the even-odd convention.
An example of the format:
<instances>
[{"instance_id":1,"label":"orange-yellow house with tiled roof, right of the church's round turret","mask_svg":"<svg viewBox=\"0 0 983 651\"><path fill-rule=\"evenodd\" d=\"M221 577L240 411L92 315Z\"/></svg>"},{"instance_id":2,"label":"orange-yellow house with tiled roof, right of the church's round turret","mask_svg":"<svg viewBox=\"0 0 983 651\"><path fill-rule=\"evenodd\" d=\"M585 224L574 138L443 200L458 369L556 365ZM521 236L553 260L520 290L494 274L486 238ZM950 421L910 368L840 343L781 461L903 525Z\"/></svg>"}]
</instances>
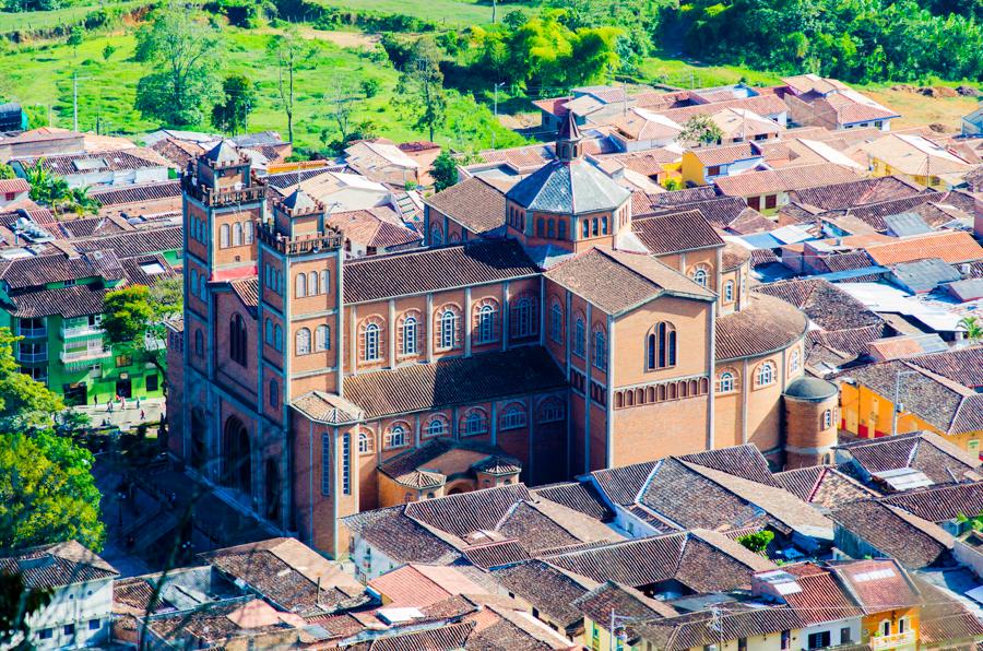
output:
<instances>
[{"instance_id":1,"label":"orange-yellow house with tiled roof, right of the church's round turret","mask_svg":"<svg viewBox=\"0 0 983 651\"><path fill-rule=\"evenodd\" d=\"M841 375L840 428L860 438L927 430L979 454L983 394L921 366L939 355L951 353L872 364Z\"/></svg>"}]
</instances>

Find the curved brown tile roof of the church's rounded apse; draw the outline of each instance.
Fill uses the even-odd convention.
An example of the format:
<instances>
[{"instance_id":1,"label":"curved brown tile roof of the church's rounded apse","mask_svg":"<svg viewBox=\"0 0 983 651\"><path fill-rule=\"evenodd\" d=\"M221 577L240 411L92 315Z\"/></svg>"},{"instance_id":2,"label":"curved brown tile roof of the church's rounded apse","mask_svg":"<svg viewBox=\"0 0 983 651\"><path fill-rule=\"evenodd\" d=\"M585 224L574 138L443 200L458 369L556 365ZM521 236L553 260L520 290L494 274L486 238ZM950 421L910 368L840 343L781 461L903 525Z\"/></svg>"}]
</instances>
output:
<instances>
[{"instance_id":1,"label":"curved brown tile roof of the church's rounded apse","mask_svg":"<svg viewBox=\"0 0 983 651\"><path fill-rule=\"evenodd\" d=\"M757 357L787 347L808 328L806 316L787 303L753 293L747 307L716 320L716 359Z\"/></svg>"}]
</instances>

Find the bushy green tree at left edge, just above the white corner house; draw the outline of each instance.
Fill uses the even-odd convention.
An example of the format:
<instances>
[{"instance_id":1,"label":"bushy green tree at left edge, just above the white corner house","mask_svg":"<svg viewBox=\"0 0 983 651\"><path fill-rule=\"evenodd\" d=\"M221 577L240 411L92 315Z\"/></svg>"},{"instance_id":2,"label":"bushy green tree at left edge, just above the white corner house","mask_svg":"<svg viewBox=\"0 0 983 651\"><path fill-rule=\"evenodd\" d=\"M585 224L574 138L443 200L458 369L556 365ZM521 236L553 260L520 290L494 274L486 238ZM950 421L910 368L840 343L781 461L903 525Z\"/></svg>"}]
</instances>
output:
<instances>
[{"instance_id":1,"label":"bushy green tree at left edge, just above the white corner house","mask_svg":"<svg viewBox=\"0 0 983 651\"><path fill-rule=\"evenodd\" d=\"M0 433L0 547L76 540L100 549L92 463L88 450L50 430Z\"/></svg>"}]
</instances>

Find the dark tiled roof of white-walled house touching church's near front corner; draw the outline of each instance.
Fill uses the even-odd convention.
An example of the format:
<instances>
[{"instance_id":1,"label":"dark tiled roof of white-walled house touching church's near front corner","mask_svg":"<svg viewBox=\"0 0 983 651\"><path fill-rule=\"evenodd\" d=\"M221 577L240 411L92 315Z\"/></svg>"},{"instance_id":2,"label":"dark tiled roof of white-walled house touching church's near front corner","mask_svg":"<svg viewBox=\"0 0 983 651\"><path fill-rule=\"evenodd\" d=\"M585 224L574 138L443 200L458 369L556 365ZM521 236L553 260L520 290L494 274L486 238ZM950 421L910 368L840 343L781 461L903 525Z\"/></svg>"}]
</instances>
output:
<instances>
[{"instance_id":1,"label":"dark tiled roof of white-walled house touching church's near front corner","mask_svg":"<svg viewBox=\"0 0 983 651\"><path fill-rule=\"evenodd\" d=\"M427 528L403 514L403 507L363 511L344 519L348 530L396 563L450 565L461 554Z\"/></svg>"}]
</instances>

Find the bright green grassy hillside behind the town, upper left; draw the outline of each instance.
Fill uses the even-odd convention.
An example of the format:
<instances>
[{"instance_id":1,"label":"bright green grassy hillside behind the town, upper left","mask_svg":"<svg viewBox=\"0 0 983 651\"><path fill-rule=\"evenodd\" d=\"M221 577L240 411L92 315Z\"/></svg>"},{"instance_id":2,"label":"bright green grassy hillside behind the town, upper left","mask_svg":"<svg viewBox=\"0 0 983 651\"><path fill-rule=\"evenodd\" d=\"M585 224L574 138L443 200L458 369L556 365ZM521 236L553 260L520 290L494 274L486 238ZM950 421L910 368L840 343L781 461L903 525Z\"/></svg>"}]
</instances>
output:
<instances>
[{"instance_id":1,"label":"bright green grassy hillside behind the town, upper left","mask_svg":"<svg viewBox=\"0 0 983 651\"><path fill-rule=\"evenodd\" d=\"M223 73L239 72L249 76L258 88L259 99L250 116L250 131L273 129L286 138L286 119L279 106L277 70L267 52L272 37L269 31L226 28L226 51L216 59ZM103 48L111 43L117 47L109 61L103 59ZM398 72L388 61L376 62L355 49L346 49L324 40L310 40L313 55L304 61L295 78L294 141L297 145L318 147L320 132L330 127L328 107L335 88L346 88L356 99L355 120L370 119L380 135L396 141L426 137L413 128L413 119L393 106ZM38 47L21 46L0 56L0 87L9 87L3 100L20 102L32 115L34 125L45 123L46 105L51 105L55 126L72 126L72 73L79 75L79 128L94 130L96 120L104 132L137 135L158 127L133 109L137 82L146 67L132 60L135 40L131 35L100 35L87 38L78 57L63 44ZM377 79L379 94L365 99L359 82ZM5 82L5 83L4 83ZM492 115L470 97L457 97L450 103L448 125L436 140L455 149L469 144L486 147L490 144ZM201 125L203 130L212 130ZM497 143L516 144L521 139L498 126Z\"/></svg>"}]
</instances>

